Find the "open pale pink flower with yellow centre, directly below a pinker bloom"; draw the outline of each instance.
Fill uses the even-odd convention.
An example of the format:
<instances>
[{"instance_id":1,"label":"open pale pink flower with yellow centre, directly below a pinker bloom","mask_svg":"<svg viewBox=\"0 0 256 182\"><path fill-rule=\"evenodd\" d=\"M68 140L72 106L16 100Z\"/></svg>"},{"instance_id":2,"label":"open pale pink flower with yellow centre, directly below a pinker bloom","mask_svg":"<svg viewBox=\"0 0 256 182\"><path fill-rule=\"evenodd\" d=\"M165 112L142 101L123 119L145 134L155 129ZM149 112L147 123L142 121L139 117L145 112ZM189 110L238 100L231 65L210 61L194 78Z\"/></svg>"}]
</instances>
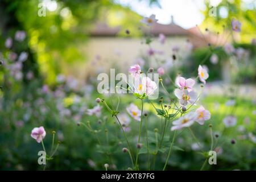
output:
<instances>
[{"instance_id":1,"label":"open pale pink flower with yellow centre, directly below a pinker bloom","mask_svg":"<svg viewBox=\"0 0 256 182\"><path fill-rule=\"evenodd\" d=\"M181 106L187 106L188 104L195 104L197 99L197 94L194 91L188 92L188 90L175 89L174 94L179 98L179 103Z\"/></svg>"}]
</instances>

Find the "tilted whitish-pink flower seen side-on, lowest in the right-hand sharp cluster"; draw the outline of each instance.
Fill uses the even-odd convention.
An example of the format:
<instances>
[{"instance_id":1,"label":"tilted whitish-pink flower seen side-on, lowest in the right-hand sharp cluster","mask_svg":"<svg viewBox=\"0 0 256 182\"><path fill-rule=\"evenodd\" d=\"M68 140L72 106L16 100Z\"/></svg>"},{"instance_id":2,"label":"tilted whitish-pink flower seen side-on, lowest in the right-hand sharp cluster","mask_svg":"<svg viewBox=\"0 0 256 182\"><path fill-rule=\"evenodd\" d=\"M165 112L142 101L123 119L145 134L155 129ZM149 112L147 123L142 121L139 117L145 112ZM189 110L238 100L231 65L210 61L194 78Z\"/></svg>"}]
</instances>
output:
<instances>
[{"instance_id":1,"label":"tilted whitish-pink flower seen side-on, lowest in the right-hand sharp cluster","mask_svg":"<svg viewBox=\"0 0 256 182\"><path fill-rule=\"evenodd\" d=\"M196 118L197 118L196 113L188 113L188 114L184 115L183 117L180 117L176 121L172 122L173 126L171 127L171 131L180 130L183 127L189 127L189 126L193 125Z\"/></svg>"}]
</instances>

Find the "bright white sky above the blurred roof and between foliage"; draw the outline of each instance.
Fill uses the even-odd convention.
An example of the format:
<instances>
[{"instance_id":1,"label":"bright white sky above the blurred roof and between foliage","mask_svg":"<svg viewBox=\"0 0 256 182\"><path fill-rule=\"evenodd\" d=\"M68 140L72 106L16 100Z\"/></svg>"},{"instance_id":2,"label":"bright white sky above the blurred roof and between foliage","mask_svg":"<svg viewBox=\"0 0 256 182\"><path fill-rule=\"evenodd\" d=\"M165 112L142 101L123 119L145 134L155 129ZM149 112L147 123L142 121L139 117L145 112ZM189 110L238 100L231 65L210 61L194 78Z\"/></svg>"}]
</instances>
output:
<instances>
[{"instance_id":1,"label":"bright white sky above the blurred roof and between foliage","mask_svg":"<svg viewBox=\"0 0 256 182\"><path fill-rule=\"evenodd\" d=\"M174 22L183 28L195 27L204 20L204 15L201 13L205 9L204 0L159 0L161 8L156 5L149 7L148 1L116 0L115 2L129 6L131 10L142 16L155 14L158 22L162 24L170 23L171 16L174 16ZM210 0L212 6L217 6L220 2L221 0ZM243 0L243 2L256 4L255 0ZM225 15L225 12L222 13Z\"/></svg>"}]
</instances>

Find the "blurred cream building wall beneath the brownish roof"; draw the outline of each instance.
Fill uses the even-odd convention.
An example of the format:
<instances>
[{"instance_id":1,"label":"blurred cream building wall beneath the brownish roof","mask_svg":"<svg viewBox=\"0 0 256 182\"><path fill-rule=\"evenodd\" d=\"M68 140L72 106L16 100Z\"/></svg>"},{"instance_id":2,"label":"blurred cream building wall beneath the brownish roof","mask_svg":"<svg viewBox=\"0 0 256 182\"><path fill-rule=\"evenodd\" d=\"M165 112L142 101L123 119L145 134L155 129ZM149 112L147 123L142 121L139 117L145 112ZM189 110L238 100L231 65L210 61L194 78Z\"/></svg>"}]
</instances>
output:
<instances>
[{"instance_id":1,"label":"blurred cream building wall beneath the brownish roof","mask_svg":"<svg viewBox=\"0 0 256 182\"><path fill-rule=\"evenodd\" d=\"M163 55L157 55L159 59L166 59L172 56L172 47L185 47L187 37L169 37L164 45L154 39L151 47L163 51ZM137 57L146 55L148 45L142 44L142 39L135 38L117 38L117 37L92 37L89 42L82 45L82 51L85 53L85 63L76 68L76 77L86 78L89 75L96 75L100 72L109 72L110 68L119 67L119 71L127 71L127 67L134 64ZM187 51L181 53L186 54ZM100 57L100 59L99 59ZM86 70L86 71L85 71Z\"/></svg>"}]
</instances>

